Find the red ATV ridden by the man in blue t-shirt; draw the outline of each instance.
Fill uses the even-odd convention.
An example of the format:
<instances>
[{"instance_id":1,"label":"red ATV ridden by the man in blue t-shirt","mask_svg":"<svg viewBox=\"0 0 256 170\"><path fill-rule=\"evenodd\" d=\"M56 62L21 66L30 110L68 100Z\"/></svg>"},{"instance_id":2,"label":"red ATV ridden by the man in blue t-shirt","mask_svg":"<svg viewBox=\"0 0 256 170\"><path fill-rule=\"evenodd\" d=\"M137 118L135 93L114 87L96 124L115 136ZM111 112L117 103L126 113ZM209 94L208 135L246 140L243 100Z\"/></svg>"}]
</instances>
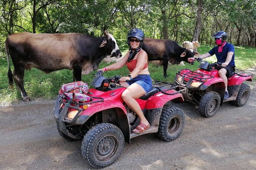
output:
<instances>
[{"instance_id":1,"label":"red ATV ridden by the man in blue t-shirt","mask_svg":"<svg viewBox=\"0 0 256 170\"><path fill-rule=\"evenodd\" d=\"M199 104L198 109L204 117L213 116L224 101L230 101L235 106L243 106L249 98L251 88L245 81L252 81L253 73L235 69L228 79L229 98L223 100L225 93L224 81L219 77L217 67L222 63L209 64L201 58L194 58L200 62L200 69L191 71L183 69L176 74L175 82L179 86L186 87L181 91L183 97ZM175 100L176 101L176 100Z\"/></svg>"}]
</instances>

